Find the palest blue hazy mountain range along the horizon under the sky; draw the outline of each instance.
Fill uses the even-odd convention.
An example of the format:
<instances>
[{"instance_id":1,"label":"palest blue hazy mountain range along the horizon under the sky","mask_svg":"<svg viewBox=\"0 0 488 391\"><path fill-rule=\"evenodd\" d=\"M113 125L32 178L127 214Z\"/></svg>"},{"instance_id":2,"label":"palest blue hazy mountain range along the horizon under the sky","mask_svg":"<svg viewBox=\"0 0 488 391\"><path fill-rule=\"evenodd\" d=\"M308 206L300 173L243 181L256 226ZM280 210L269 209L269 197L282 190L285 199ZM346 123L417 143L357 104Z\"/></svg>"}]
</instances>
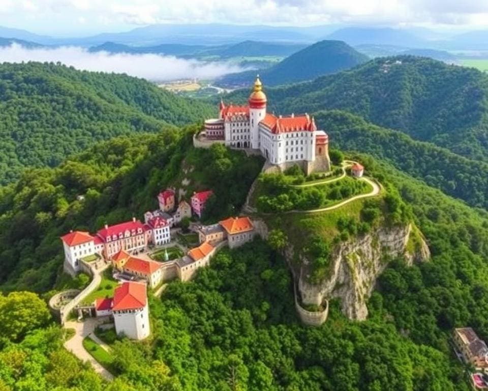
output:
<instances>
[{"instance_id":1,"label":"palest blue hazy mountain range along the horizon under the sky","mask_svg":"<svg viewBox=\"0 0 488 391\"><path fill-rule=\"evenodd\" d=\"M408 48L488 50L488 31L459 35L420 27L345 26L341 24L311 27L210 24L154 24L121 33L89 37L55 38L25 30L0 26L0 37L37 42L42 45L99 46L106 42L129 46L229 45L242 41L311 44L319 40L340 40L351 46L362 44L395 45Z\"/></svg>"}]
</instances>

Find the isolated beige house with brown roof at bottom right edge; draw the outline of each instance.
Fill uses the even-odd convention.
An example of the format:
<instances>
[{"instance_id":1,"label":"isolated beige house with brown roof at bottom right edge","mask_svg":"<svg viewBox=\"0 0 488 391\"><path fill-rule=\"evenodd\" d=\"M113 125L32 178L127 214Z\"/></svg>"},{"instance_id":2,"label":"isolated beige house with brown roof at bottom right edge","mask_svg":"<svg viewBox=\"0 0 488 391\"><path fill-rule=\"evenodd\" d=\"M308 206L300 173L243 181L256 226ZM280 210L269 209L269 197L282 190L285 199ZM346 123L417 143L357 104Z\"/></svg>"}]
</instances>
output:
<instances>
[{"instance_id":1,"label":"isolated beige house with brown roof at bottom right edge","mask_svg":"<svg viewBox=\"0 0 488 391\"><path fill-rule=\"evenodd\" d=\"M471 327L455 328L454 343L465 360L475 368L488 368L488 347Z\"/></svg>"}]
</instances>

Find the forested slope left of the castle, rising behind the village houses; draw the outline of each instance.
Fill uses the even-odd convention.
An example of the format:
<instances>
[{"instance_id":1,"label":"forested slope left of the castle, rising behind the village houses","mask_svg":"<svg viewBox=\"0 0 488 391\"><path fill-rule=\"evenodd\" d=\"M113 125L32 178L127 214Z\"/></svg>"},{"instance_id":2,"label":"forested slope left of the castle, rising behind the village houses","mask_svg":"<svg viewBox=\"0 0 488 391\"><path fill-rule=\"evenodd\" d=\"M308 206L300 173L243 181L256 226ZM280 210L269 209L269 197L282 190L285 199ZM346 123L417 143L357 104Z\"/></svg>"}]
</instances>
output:
<instances>
[{"instance_id":1,"label":"forested slope left of the castle, rising behind the village houses","mask_svg":"<svg viewBox=\"0 0 488 391\"><path fill-rule=\"evenodd\" d=\"M220 145L194 150L195 130L114 138L54 169L29 170L17 183L0 187L0 289L49 290L63 263L59 236L71 229L95 232L132 216L142 219L157 207L162 188L180 186L182 164L190 163L189 178L199 179L192 190L215 192L218 207L209 205L215 211L209 220L238 210L261 159ZM78 194L85 199L77 200Z\"/></svg>"}]
</instances>

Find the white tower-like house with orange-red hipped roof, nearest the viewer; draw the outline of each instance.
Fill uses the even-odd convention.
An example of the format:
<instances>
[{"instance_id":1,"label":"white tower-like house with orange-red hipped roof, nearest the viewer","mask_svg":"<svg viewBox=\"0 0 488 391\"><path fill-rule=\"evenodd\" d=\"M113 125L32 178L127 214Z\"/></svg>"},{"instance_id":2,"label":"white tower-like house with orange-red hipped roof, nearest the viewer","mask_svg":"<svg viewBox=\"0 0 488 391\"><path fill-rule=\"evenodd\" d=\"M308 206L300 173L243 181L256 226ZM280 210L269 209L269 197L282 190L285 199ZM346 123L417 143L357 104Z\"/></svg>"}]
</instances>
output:
<instances>
[{"instance_id":1,"label":"white tower-like house with orange-red hipped roof, nearest the viewer","mask_svg":"<svg viewBox=\"0 0 488 391\"><path fill-rule=\"evenodd\" d=\"M133 340L147 338L150 329L146 285L127 282L115 288L112 315L117 335Z\"/></svg>"}]
</instances>

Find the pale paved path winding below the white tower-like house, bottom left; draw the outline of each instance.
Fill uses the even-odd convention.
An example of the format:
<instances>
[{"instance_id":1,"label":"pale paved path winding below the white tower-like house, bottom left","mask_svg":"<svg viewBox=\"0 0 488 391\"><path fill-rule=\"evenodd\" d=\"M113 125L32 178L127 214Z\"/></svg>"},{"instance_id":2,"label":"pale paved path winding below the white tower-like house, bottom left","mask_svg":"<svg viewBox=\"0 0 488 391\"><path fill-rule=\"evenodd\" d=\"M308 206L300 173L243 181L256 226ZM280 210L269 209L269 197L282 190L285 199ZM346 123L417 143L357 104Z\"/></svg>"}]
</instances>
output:
<instances>
[{"instance_id":1,"label":"pale paved path winding below the white tower-like house, bottom left","mask_svg":"<svg viewBox=\"0 0 488 391\"><path fill-rule=\"evenodd\" d=\"M92 355L88 353L86 349L83 347L83 339L88 335L93 334L95 327L103 323L104 320L105 320L104 318L87 318L83 322L75 322L75 321L66 322L64 325L65 328L75 329L75 335L73 338L66 341L64 345L67 350L72 352L81 361L83 362L88 361L92 365L93 369L95 369L95 372L103 376L106 380L112 381L113 375L110 372L108 372L105 368L103 368L99 364L99 362L95 358L93 358ZM94 337L97 338L96 336ZM98 341L96 341L91 336L90 338L92 338L97 343L98 341L100 341L98 338L97 338ZM105 349L105 347L103 348Z\"/></svg>"}]
</instances>

